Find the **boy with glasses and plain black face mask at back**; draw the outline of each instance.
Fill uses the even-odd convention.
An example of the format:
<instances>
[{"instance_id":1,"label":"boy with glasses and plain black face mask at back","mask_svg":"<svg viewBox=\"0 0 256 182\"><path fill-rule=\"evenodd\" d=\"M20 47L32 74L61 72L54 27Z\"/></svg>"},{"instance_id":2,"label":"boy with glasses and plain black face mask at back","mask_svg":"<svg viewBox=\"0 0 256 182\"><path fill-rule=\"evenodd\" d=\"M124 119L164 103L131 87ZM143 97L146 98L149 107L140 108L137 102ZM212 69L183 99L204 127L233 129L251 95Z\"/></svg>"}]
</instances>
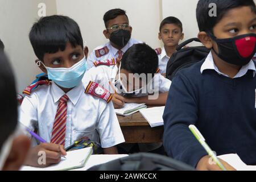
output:
<instances>
[{"instance_id":1,"label":"boy with glasses and plain black face mask at back","mask_svg":"<svg viewBox=\"0 0 256 182\"><path fill-rule=\"evenodd\" d=\"M94 67L95 64L108 65L114 69L115 59L118 57L121 58L123 53L133 46L133 44L141 43L131 38L133 28L131 28L128 16L124 10L109 10L104 15L104 23L106 30L103 31L103 34L110 42L93 50L87 60L87 69ZM114 61L111 61L112 59Z\"/></svg>"}]
</instances>

